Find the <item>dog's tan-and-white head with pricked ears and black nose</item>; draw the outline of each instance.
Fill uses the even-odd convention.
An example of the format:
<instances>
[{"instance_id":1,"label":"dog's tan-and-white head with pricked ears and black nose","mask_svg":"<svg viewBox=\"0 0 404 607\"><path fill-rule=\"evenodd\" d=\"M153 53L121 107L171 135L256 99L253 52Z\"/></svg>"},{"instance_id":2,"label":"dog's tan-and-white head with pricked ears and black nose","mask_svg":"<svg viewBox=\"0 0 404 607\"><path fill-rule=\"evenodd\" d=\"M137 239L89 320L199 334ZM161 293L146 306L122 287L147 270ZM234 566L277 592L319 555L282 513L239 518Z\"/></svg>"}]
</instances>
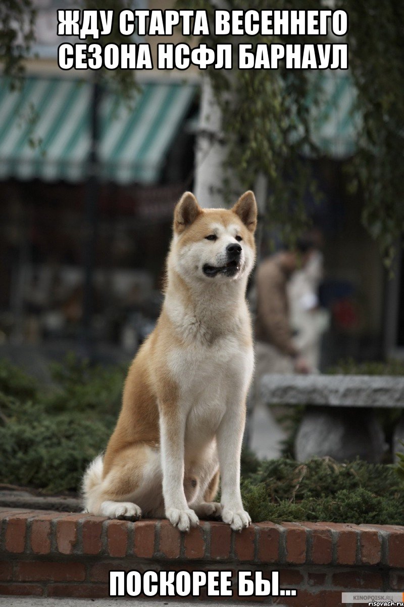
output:
<instances>
[{"instance_id":1,"label":"dog's tan-and-white head with pricked ears and black nose","mask_svg":"<svg viewBox=\"0 0 404 607\"><path fill-rule=\"evenodd\" d=\"M187 281L239 280L250 274L255 260L257 205L253 192L232 209L202 209L185 192L174 211L171 254Z\"/></svg>"}]
</instances>

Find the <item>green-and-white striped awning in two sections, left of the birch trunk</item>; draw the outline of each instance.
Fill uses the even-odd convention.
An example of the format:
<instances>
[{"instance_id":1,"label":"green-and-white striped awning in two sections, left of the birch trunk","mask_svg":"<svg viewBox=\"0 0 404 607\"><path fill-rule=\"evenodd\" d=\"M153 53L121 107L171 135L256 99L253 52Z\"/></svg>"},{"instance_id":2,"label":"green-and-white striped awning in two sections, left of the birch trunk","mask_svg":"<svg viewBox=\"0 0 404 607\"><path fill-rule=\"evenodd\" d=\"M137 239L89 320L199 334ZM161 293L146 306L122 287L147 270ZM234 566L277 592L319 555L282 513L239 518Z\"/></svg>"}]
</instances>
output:
<instances>
[{"instance_id":1,"label":"green-and-white striped awning in two sections, left of the birch trunk","mask_svg":"<svg viewBox=\"0 0 404 607\"><path fill-rule=\"evenodd\" d=\"M101 178L156 182L194 98L192 84L148 83L133 102L104 92L100 106ZM0 180L81 181L90 151L91 84L0 80Z\"/></svg>"}]
</instances>

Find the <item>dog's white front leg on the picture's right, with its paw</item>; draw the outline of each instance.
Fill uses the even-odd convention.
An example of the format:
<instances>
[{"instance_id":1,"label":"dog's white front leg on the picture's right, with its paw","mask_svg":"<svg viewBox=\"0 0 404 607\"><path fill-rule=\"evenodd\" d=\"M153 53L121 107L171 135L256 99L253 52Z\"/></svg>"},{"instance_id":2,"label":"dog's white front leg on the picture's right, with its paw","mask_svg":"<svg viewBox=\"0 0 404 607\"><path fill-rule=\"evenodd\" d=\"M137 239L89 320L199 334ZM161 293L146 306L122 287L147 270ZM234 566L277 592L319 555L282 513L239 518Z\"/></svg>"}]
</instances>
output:
<instances>
[{"instance_id":1,"label":"dog's white front leg on the picture's right, with its paw","mask_svg":"<svg viewBox=\"0 0 404 607\"><path fill-rule=\"evenodd\" d=\"M234 531L248 527L251 518L245 512L240 493L240 456L245 424L245 403L231 404L217 430L217 452L219 455L222 483L222 520Z\"/></svg>"}]
</instances>

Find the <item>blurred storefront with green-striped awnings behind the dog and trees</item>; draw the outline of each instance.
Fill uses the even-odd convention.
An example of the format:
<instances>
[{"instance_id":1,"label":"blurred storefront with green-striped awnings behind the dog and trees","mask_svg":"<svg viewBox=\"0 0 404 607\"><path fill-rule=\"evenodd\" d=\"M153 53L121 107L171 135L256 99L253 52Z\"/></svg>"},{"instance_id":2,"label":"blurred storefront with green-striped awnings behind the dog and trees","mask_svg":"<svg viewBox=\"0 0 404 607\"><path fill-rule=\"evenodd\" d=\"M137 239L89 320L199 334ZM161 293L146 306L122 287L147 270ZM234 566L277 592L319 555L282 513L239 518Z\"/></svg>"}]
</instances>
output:
<instances>
[{"instance_id":1,"label":"blurred storefront with green-striped awnings behind the dog and trees","mask_svg":"<svg viewBox=\"0 0 404 607\"><path fill-rule=\"evenodd\" d=\"M19 90L10 90L4 78L0 87L0 337L38 342L78 336L88 262L85 209L95 174L93 336L133 351L159 310L173 206L193 185L200 72L139 71L141 92L131 104L102 90L94 166L93 75L58 68L61 3L35 4L27 78ZM142 0L136 7L166 4ZM176 32L170 41L180 39ZM156 45L167 41L147 40L154 56ZM308 162L324 196L319 205L310 198L306 203L325 242L326 367L340 357L380 358L404 348L404 277L398 264L395 280L387 282L360 223L360 192L346 193L345 166L360 128L349 74L317 72L313 86L324 89L321 109L313 113L320 158Z\"/></svg>"}]
</instances>

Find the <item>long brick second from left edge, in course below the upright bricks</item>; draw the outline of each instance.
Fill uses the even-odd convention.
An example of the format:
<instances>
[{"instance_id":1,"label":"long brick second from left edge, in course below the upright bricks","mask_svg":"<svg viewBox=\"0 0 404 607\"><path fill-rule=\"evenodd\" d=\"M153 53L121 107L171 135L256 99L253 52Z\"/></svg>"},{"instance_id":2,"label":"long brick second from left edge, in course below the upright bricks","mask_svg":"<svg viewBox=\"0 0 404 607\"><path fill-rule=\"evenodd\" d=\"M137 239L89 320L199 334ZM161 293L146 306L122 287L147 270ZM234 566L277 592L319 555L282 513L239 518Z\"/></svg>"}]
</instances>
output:
<instances>
[{"instance_id":1,"label":"long brick second from left edge, in course below the upright bricks","mask_svg":"<svg viewBox=\"0 0 404 607\"><path fill-rule=\"evenodd\" d=\"M48 561L18 561L18 582L83 582L83 563L54 563Z\"/></svg>"}]
</instances>

